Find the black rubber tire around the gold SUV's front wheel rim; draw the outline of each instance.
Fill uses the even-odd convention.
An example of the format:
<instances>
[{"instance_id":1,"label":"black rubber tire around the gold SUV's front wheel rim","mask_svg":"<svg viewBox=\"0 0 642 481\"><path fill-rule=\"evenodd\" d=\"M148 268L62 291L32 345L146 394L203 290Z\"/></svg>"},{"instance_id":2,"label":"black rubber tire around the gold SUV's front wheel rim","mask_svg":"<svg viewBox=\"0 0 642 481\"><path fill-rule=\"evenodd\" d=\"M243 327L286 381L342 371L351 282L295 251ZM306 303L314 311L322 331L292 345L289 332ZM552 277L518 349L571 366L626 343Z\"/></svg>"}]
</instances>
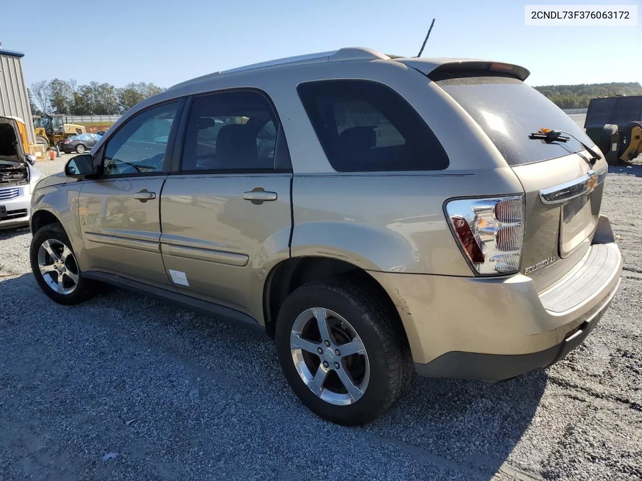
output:
<instances>
[{"instance_id":1,"label":"black rubber tire around the gold SUV's front wheel rim","mask_svg":"<svg viewBox=\"0 0 642 481\"><path fill-rule=\"evenodd\" d=\"M66 269L69 269L69 273L78 276L78 282L76 282L76 287L73 289L73 291L69 293L56 292L53 287L51 287L45 280L44 274L41 273L39 264L39 251L40 246L42 246L43 242L45 241L60 242L64 246L67 246L67 248L69 248L69 251L71 251L72 256L71 258L67 258L64 266ZM58 254L59 253L60 251L58 251ZM61 224L48 224L40 228L38 232L35 233L33 239L31 239L29 257L31 262L31 272L33 272L33 276L36 278L36 282L40 286L40 289L42 289L42 292L47 294L49 298L53 299L58 304L79 304L92 296L94 291L94 284L90 280L85 279L82 272L80 272L80 269L78 269L78 264L76 264L74 252L71 248L71 242L69 242L69 237L67 237L67 233L65 233L65 230ZM56 280L58 280L59 274L57 272L51 274L50 278L53 279L54 275L56 277ZM67 276L67 274L65 274L65 276ZM69 283L71 283L71 277L67 276L66 280L64 280L63 283L67 283L67 285L69 285Z\"/></svg>"}]
</instances>

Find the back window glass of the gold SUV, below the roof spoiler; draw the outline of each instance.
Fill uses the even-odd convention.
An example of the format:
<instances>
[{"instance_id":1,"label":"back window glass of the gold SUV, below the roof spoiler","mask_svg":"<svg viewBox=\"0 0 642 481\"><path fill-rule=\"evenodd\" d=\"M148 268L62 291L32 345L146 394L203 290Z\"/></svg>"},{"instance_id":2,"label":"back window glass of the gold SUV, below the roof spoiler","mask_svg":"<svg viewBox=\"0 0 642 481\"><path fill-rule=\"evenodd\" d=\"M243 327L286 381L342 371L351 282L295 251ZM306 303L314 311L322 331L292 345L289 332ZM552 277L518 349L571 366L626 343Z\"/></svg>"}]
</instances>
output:
<instances>
[{"instance_id":1,"label":"back window glass of the gold SUV, below the roof spoiler","mask_svg":"<svg viewBox=\"0 0 642 481\"><path fill-rule=\"evenodd\" d=\"M482 127L508 165L533 164L584 149L572 138L566 143L550 144L528 138L542 127L564 130L585 144L593 145L571 117L521 80L465 77L436 83Z\"/></svg>"}]
</instances>

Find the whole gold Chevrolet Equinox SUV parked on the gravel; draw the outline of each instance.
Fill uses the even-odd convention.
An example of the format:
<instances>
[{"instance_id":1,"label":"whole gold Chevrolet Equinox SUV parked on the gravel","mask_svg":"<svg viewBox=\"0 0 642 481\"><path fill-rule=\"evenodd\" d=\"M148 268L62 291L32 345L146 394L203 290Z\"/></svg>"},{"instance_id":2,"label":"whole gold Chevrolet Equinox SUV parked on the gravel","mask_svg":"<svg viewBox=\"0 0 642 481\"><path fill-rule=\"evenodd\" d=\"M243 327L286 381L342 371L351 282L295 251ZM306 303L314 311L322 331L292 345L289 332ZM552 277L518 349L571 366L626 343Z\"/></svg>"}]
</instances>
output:
<instances>
[{"instance_id":1,"label":"whole gold Chevrolet Equinox SUV parked on the gravel","mask_svg":"<svg viewBox=\"0 0 642 481\"><path fill-rule=\"evenodd\" d=\"M38 183L33 274L59 303L106 282L261 330L344 425L413 371L550 366L622 261L603 155L528 73L345 48L175 85Z\"/></svg>"}]
</instances>

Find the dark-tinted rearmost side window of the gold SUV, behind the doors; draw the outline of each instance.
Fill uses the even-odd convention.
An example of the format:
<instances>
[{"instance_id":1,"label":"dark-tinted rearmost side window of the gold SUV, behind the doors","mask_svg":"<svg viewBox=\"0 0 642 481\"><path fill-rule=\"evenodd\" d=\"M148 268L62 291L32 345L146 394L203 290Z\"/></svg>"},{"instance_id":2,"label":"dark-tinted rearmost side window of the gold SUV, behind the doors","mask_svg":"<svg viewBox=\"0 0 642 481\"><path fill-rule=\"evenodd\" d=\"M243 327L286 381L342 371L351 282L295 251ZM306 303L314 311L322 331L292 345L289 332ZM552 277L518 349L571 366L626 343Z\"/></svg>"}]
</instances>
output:
<instances>
[{"instance_id":1,"label":"dark-tinted rearmost side window of the gold SUV, behind the doors","mask_svg":"<svg viewBox=\"0 0 642 481\"><path fill-rule=\"evenodd\" d=\"M367 80L297 87L330 164L339 172L424 171L448 166L426 122L397 92Z\"/></svg>"}]
</instances>

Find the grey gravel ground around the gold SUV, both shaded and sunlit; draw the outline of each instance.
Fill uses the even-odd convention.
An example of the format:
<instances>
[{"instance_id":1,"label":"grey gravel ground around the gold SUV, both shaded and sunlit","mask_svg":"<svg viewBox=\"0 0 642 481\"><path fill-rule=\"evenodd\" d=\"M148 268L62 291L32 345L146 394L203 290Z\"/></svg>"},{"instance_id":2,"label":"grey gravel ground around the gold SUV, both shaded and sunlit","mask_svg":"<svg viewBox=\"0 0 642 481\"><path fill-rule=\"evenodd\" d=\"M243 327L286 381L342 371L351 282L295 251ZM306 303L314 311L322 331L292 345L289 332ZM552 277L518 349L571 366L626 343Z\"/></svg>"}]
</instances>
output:
<instances>
[{"instance_id":1,"label":"grey gravel ground around the gold SUV, both shaded and sunlit","mask_svg":"<svg viewBox=\"0 0 642 481\"><path fill-rule=\"evenodd\" d=\"M498 385L415 378L362 428L305 409L260 335L109 289L56 305L0 232L0 480L641 479L642 166L610 171L626 267L586 342Z\"/></svg>"}]
</instances>

